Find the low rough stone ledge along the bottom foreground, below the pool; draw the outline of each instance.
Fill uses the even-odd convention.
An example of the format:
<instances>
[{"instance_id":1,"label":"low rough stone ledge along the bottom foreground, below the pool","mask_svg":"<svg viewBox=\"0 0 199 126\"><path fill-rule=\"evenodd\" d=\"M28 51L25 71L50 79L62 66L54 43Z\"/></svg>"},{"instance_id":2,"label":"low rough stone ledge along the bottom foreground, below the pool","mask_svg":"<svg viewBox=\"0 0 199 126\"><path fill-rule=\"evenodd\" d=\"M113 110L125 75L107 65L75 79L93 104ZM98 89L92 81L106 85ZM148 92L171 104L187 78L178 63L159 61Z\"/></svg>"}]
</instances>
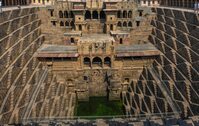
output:
<instances>
[{"instance_id":1,"label":"low rough stone ledge along the bottom foreground, below the pool","mask_svg":"<svg viewBox=\"0 0 199 126\"><path fill-rule=\"evenodd\" d=\"M64 126L198 126L199 122L189 119L178 118L112 118L112 119L54 119L40 122L30 122L32 125L64 125ZM29 124L29 123L28 123Z\"/></svg>"}]
</instances>

